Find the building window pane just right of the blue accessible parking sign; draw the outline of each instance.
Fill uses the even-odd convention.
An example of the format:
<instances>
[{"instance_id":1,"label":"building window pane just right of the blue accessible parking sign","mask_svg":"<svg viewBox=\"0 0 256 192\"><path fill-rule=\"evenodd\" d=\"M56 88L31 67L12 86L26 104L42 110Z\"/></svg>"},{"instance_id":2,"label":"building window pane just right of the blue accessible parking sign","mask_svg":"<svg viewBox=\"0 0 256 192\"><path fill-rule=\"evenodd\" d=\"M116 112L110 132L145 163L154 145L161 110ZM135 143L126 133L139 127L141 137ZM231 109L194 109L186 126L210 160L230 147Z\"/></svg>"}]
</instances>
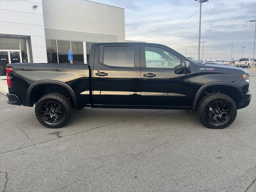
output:
<instances>
[{"instance_id":1,"label":"building window pane just right of the blue accessible parking sign","mask_svg":"<svg viewBox=\"0 0 256 192\"><path fill-rule=\"evenodd\" d=\"M73 63L84 63L84 48L83 42L72 41L71 42Z\"/></svg>"}]
</instances>

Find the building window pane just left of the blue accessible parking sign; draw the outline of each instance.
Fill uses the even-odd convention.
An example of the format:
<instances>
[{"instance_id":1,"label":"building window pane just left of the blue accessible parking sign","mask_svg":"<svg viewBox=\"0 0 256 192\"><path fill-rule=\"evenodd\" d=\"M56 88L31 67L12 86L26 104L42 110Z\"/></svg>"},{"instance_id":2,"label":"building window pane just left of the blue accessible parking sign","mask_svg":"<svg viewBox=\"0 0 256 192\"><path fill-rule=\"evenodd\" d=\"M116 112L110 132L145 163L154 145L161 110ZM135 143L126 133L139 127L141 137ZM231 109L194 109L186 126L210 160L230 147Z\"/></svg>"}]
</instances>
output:
<instances>
[{"instance_id":1,"label":"building window pane just left of the blue accessible parking sign","mask_svg":"<svg viewBox=\"0 0 256 192\"><path fill-rule=\"evenodd\" d=\"M70 41L57 40L59 63L70 63L68 60L68 51L70 50Z\"/></svg>"}]
</instances>

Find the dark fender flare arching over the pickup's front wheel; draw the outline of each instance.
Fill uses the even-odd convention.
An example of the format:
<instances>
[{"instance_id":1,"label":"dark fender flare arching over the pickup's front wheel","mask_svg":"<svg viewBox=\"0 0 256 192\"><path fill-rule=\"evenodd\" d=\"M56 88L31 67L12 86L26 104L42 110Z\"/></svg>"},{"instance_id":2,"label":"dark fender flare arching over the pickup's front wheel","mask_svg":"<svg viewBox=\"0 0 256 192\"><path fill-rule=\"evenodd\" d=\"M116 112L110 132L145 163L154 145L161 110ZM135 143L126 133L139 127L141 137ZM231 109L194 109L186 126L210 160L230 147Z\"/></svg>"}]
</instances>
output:
<instances>
[{"instance_id":1,"label":"dark fender flare arching over the pickup's front wheel","mask_svg":"<svg viewBox=\"0 0 256 192\"><path fill-rule=\"evenodd\" d=\"M196 96L194 97L194 101L193 101L193 105L192 105L192 110L196 110L196 106L199 100L199 97L202 93L202 91L210 86L216 86L216 85L225 85L225 86L231 86L236 88L240 93L243 93L243 90L240 86L238 86L237 84L234 83L230 83L230 82L210 82L210 83L206 83L203 86L200 87L200 89L196 92Z\"/></svg>"}]
</instances>

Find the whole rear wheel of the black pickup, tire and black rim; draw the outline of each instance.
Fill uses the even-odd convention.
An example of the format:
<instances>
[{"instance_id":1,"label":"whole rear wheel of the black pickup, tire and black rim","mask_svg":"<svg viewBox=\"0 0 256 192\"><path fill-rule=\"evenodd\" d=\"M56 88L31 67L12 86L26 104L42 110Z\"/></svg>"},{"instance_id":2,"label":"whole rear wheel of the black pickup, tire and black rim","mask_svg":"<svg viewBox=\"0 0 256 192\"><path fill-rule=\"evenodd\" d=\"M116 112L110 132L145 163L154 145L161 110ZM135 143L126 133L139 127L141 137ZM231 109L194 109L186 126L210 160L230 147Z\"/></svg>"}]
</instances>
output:
<instances>
[{"instance_id":1,"label":"whole rear wheel of the black pickup, tire and black rim","mask_svg":"<svg viewBox=\"0 0 256 192\"><path fill-rule=\"evenodd\" d=\"M48 128L61 128L72 116L72 104L66 96L51 93L42 96L35 108L37 120Z\"/></svg>"}]
</instances>

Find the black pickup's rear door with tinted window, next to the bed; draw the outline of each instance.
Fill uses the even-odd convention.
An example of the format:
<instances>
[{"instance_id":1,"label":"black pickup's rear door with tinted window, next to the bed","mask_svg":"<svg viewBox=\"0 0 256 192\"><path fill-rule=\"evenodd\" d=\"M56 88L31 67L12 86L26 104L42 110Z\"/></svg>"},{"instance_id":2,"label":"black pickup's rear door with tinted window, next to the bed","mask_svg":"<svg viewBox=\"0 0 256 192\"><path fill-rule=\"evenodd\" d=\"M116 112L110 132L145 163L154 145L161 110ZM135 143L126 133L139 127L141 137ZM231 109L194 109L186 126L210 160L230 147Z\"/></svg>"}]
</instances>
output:
<instances>
[{"instance_id":1,"label":"black pickup's rear door with tinted window, next to the bed","mask_svg":"<svg viewBox=\"0 0 256 192\"><path fill-rule=\"evenodd\" d=\"M136 44L103 44L95 50L92 102L97 105L140 103L140 55Z\"/></svg>"}]
</instances>

